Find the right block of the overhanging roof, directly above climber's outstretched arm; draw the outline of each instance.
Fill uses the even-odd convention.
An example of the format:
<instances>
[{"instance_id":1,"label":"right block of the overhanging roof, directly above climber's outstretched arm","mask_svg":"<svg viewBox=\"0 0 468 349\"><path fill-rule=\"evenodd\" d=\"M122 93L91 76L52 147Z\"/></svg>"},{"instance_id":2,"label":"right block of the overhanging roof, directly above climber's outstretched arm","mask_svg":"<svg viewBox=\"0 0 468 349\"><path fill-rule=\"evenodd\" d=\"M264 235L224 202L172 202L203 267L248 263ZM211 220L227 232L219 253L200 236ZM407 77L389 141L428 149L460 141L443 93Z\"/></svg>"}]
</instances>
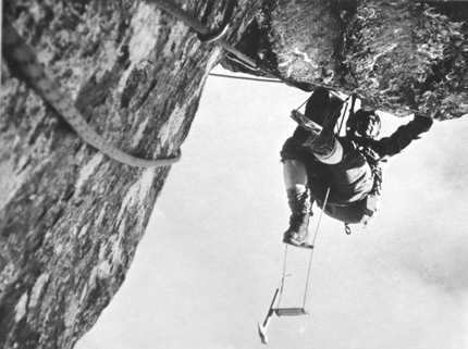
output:
<instances>
[{"instance_id":1,"label":"right block of the overhanging roof, directly above climber's outstretched arm","mask_svg":"<svg viewBox=\"0 0 468 349\"><path fill-rule=\"evenodd\" d=\"M368 104L439 120L468 113L468 23L427 4L362 1L353 25L346 82Z\"/></svg>"}]
</instances>

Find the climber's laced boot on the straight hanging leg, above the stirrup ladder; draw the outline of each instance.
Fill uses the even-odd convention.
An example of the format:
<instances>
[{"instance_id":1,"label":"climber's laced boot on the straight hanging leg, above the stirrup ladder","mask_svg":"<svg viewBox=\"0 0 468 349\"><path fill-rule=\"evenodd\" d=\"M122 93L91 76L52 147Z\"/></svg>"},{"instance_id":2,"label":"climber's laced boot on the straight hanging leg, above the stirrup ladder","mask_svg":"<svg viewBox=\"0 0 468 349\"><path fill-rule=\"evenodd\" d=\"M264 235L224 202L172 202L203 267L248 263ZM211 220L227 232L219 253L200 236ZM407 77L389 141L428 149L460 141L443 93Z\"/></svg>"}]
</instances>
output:
<instances>
[{"instance_id":1,"label":"climber's laced boot on the straight hanging leg, above the stirrup ladder","mask_svg":"<svg viewBox=\"0 0 468 349\"><path fill-rule=\"evenodd\" d=\"M295 187L287 190L287 198L291 208L290 228L284 233L283 242L311 248L308 244L309 217L311 215L311 201L309 189Z\"/></svg>"}]
</instances>

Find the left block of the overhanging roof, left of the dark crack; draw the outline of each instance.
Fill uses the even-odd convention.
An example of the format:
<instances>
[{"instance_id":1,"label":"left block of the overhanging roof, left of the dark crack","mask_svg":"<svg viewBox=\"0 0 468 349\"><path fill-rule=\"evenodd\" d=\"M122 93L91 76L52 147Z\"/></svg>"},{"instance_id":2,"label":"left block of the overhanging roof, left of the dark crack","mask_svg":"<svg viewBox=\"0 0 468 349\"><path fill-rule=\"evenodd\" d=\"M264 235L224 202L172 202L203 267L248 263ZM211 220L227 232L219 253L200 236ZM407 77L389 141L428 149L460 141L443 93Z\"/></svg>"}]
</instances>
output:
<instances>
[{"instance_id":1,"label":"left block of the overhanging roof, left of the dark crack","mask_svg":"<svg viewBox=\"0 0 468 349\"><path fill-rule=\"evenodd\" d=\"M343 8L353 9L353 3ZM237 46L290 82L330 84L338 70L346 25L336 9L337 1L329 0L264 0ZM230 57L222 64L235 72L264 75Z\"/></svg>"}]
</instances>

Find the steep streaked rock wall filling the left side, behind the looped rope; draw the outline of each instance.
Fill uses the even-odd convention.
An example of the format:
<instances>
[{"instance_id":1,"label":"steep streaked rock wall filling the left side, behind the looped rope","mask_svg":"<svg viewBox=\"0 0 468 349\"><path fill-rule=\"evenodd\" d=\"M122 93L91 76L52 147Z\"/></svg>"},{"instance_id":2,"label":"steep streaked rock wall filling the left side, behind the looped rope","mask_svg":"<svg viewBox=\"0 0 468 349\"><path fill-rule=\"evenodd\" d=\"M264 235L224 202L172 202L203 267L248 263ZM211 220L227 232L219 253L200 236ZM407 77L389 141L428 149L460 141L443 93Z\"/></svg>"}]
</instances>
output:
<instances>
[{"instance_id":1,"label":"steep streaked rock wall filling the left side, behind the looped rope","mask_svg":"<svg viewBox=\"0 0 468 349\"><path fill-rule=\"evenodd\" d=\"M226 1L185 1L208 27ZM158 1L5 1L4 15L99 134L146 159L186 138L223 52ZM239 1L226 40L257 11ZM2 59L0 347L72 348L125 278L169 167L84 144ZM183 161L183 159L182 159Z\"/></svg>"}]
</instances>

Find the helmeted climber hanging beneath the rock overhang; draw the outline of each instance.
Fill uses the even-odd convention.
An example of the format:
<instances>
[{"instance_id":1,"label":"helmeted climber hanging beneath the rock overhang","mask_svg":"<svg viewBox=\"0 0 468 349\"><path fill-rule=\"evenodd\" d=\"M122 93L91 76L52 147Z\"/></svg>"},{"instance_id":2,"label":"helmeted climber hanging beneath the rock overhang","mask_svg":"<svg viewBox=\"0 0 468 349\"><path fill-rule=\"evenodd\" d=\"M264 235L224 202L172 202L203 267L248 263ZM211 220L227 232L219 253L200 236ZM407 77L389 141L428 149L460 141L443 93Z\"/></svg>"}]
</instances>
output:
<instances>
[{"instance_id":1,"label":"helmeted climber hanging beneath the rock overhang","mask_svg":"<svg viewBox=\"0 0 468 349\"><path fill-rule=\"evenodd\" d=\"M334 128L342 105L340 98L319 87L308 99L304 115L292 112L298 127L281 151L292 211L285 244L308 247L313 201L345 225L366 223L378 209L382 164L433 124L432 119L416 114L392 136L378 139L380 117L373 110L359 109L348 117L346 136L340 137Z\"/></svg>"}]
</instances>

